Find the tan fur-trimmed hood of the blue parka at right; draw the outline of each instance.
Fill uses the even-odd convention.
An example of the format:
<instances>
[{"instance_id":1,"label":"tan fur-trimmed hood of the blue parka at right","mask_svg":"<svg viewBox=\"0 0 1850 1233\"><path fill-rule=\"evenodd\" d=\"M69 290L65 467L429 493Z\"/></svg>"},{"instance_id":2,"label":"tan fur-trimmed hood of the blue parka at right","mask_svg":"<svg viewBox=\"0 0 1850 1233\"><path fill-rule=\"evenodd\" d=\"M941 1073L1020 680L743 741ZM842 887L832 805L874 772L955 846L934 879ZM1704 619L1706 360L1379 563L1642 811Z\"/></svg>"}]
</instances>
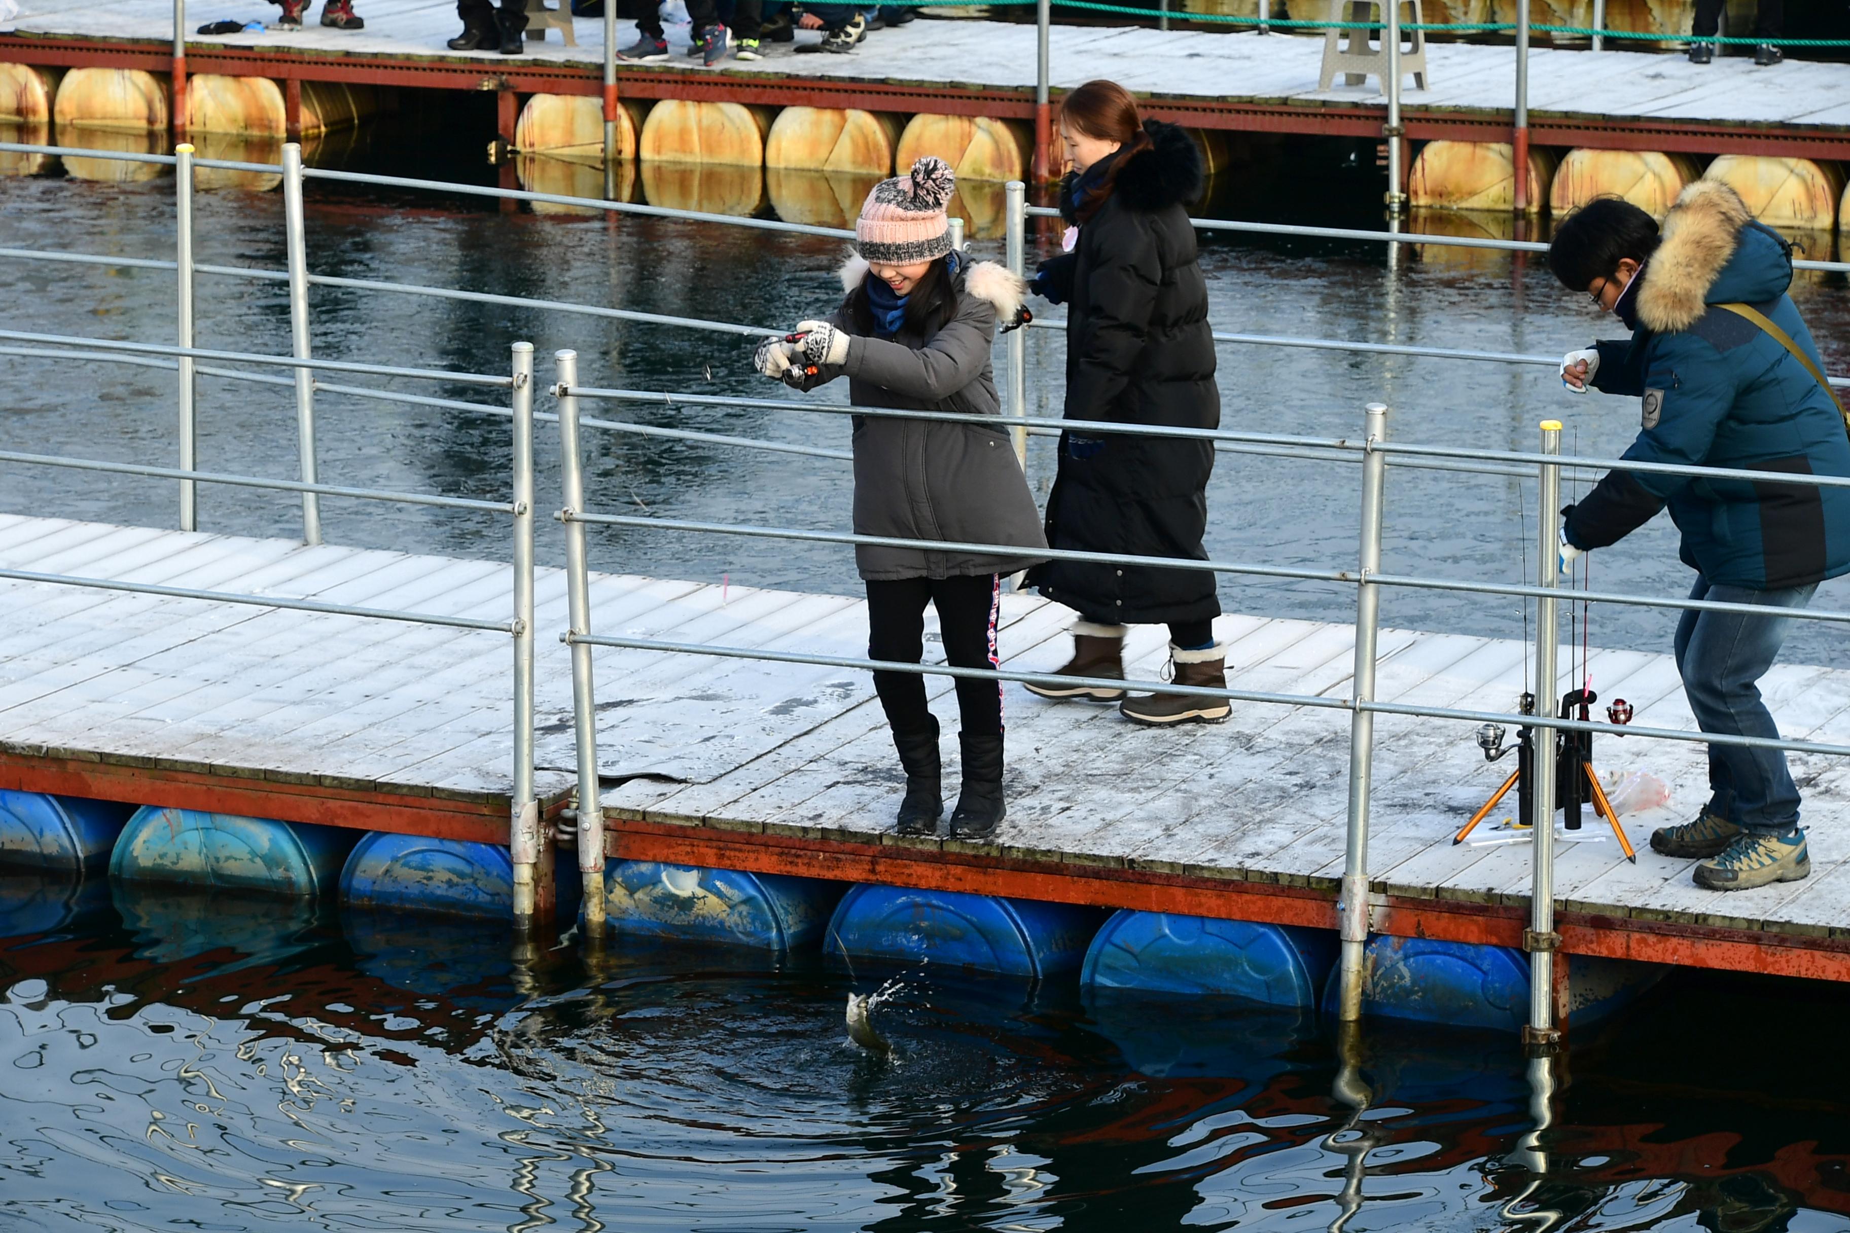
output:
<instances>
[{"instance_id":1,"label":"tan fur-trimmed hood of the blue parka at right","mask_svg":"<svg viewBox=\"0 0 1850 1233\"><path fill-rule=\"evenodd\" d=\"M1793 259L1741 194L1698 179L1678 194L1641 277L1637 320L1665 335L1695 325L1711 303L1776 299L1793 283Z\"/></svg>"}]
</instances>

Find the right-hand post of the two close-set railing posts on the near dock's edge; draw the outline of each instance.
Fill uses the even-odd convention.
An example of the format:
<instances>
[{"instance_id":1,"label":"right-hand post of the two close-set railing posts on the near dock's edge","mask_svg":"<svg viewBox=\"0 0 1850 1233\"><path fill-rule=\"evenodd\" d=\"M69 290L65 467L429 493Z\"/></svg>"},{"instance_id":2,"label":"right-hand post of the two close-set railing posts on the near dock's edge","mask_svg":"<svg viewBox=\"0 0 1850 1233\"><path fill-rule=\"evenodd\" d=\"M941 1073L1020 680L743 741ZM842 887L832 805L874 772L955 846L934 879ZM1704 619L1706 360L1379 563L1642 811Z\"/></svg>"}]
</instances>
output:
<instances>
[{"instance_id":1,"label":"right-hand post of the two close-set railing posts on the near dock's edge","mask_svg":"<svg viewBox=\"0 0 1850 1233\"><path fill-rule=\"evenodd\" d=\"M555 351L559 397L559 481L564 490L566 525L566 603L572 636L590 634L590 566L585 551L585 460L579 453L577 351ZM572 728L577 736L579 765L579 876L585 880L585 934L603 934L603 802L598 786L598 695L592 680L590 643L572 641Z\"/></svg>"}]
</instances>

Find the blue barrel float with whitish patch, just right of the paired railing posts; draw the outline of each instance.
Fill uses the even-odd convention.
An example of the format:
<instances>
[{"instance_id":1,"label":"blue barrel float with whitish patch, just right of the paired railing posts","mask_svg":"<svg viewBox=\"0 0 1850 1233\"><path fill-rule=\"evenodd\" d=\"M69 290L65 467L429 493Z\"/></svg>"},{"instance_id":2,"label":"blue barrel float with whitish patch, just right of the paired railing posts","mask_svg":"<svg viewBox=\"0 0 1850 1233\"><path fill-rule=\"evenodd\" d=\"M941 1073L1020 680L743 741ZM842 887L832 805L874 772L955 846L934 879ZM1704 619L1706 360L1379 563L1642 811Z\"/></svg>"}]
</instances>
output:
<instances>
[{"instance_id":1,"label":"blue barrel float with whitish patch, just right of the paired railing posts","mask_svg":"<svg viewBox=\"0 0 1850 1233\"><path fill-rule=\"evenodd\" d=\"M605 917L618 934L762 950L814 946L840 882L662 861L609 861Z\"/></svg>"}]
</instances>

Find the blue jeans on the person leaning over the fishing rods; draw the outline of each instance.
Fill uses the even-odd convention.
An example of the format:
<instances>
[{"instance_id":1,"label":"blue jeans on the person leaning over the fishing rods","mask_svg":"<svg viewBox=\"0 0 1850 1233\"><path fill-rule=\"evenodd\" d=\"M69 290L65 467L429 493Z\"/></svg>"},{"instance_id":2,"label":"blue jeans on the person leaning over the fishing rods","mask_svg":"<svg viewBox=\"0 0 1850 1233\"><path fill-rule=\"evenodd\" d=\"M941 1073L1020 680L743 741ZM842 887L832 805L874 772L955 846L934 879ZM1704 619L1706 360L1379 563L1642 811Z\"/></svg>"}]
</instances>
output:
<instances>
[{"instance_id":1,"label":"blue jeans on the person leaning over the fishing rods","mask_svg":"<svg viewBox=\"0 0 1850 1233\"><path fill-rule=\"evenodd\" d=\"M1811 586L1750 592L1745 586L1711 586L1696 575L1691 599L1767 608L1804 608ZM1704 732L1778 738L1780 728L1759 699L1759 678L1772 667L1793 625L1789 616L1737 612L1684 612L1676 623L1676 671L1684 695ZM1798 787L1785 769L1785 751L1709 745L1709 813L1735 826L1787 834L1798 824Z\"/></svg>"}]
</instances>

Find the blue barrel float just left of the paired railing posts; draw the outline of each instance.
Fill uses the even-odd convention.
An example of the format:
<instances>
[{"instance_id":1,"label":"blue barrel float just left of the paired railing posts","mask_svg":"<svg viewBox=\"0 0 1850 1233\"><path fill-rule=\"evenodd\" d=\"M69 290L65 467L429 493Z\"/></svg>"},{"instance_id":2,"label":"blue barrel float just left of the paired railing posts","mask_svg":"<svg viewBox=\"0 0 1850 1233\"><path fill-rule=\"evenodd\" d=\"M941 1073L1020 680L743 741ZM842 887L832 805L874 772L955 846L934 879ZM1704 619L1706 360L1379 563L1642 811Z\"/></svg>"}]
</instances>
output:
<instances>
[{"instance_id":1,"label":"blue barrel float just left of the paired railing posts","mask_svg":"<svg viewBox=\"0 0 1850 1233\"><path fill-rule=\"evenodd\" d=\"M575 869L559 871L559 913L575 915L583 891ZM514 861L505 847L370 832L340 869L348 908L437 911L461 917L514 915Z\"/></svg>"}]
</instances>

